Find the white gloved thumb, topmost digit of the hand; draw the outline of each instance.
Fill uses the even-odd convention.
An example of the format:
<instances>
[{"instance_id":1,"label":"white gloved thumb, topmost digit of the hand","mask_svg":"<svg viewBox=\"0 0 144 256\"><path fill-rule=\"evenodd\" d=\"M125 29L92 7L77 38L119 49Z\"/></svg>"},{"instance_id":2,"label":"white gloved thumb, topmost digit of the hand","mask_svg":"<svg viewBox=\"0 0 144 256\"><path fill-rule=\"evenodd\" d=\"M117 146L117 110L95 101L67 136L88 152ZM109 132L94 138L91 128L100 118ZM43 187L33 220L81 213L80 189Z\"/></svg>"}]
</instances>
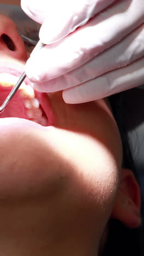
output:
<instances>
[{"instance_id":1,"label":"white gloved thumb, topmost digit of the hand","mask_svg":"<svg viewBox=\"0 0 144 256\"><path fill-rule=\"evenodd\" d=\"M95 14L105 9L116 0L83 0L83 1L58 1L59 7L50 13L40 28L39 37L45 44L52 44L61 40L77 27L87 23ZM64 8L62 9L62 2ZM53 8L53 9L54 9ZM61 10L61 11L59 11ZM52 24L50 26L50 24Z\"/></svg>"}]
</instances>

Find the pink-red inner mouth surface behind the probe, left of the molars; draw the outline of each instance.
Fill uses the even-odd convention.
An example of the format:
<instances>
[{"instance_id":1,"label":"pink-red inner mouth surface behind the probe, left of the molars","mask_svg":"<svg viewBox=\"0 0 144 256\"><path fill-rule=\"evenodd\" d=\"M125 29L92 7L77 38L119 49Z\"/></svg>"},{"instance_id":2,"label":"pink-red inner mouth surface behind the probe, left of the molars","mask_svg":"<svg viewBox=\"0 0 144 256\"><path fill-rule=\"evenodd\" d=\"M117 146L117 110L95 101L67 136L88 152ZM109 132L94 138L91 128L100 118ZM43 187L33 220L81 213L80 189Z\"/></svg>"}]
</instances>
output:
<instances>
[{"instance_id":1,"label":"pink-red inner mouth surface behind the probe, left of the molars","mask_svg":"<svg viewBox=\"0 0 144 256\"><path fill-rule=\"evenodd\" d=\"M3 104L5 98L7 98L8 94L10 93L11 89L13 89L13 85L5 84L6 86L2 86L0 83L0 105ZM17 118L24 118L29 119L26 114L26 107L24 104L25 98L22 98L20 95L21 90L17 90L16 94L5 108L4 112L1 114L1 118L8 118L8 117L17 117Z\"/></svg>"}]
</instances>

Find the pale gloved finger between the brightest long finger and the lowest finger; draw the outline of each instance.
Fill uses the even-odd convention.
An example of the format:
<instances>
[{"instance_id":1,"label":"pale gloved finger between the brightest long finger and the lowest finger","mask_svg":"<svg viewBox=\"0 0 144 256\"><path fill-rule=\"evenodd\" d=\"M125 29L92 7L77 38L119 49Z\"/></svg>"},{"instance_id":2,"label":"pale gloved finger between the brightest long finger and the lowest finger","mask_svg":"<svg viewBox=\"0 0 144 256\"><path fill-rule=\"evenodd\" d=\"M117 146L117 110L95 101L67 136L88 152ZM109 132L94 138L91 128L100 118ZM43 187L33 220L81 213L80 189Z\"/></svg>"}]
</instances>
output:
<instances>
[{"instance_id":1,"label":"pale gloved finger between the brightest long finger and the lowest finger","mask_svg":"<svg viewBox=\"0 0 144 256\"><path fill-rule=\"evenodd\" d=\"M114 69L127 66L142 56L144 56L144 24L85 65L47 82L34 84L34 88L43 92L67 89Z\"/></svg>"}]
</instances>

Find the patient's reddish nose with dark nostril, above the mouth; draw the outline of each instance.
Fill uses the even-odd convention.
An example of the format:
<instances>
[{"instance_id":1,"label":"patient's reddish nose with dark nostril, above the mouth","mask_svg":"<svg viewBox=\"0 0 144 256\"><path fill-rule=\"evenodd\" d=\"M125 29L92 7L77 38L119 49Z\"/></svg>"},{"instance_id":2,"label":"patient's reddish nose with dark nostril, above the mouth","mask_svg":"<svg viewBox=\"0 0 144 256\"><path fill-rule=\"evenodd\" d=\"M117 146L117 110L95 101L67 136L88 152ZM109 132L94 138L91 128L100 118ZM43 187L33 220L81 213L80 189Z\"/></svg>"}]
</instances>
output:
<instances>
[{"instance_id":1,"label":"patient's reddish nose with dark nostril, above the mouth","mask_svg":"<svg viewBox=\"0 0 144 256\"><path fill-rule=\"evenodd\" d=\"M25 44L17 32L16 25L7 16L0 15L0 54L26 61Z\"/></svg>"}]
</instances>

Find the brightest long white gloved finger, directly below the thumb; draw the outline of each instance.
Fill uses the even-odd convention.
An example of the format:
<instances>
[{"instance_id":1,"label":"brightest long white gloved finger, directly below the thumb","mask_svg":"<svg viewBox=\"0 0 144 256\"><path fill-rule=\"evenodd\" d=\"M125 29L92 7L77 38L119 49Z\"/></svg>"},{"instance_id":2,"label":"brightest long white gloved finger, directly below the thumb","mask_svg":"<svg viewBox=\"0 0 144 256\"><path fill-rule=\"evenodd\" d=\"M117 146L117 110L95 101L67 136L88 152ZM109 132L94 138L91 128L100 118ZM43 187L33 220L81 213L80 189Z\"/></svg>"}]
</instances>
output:
<instances>
[{"instance_id":1,"label":"brightest long white gloved finger, directly below the thumb","mask_svg":"<svg viewBox=\"0 0 144 256\"><path fill-rule=\"evenodd\" d=\"M26 63L28 78L32 82L45 82L68 73L139 27L144 19L144 5L137 0L133 0L131 5L130 0L127 1L128 5L125 3L125 0L118 1L110 8L109 13L100 13L61 42L46 45L33 54Z\"/></svg>"}]
</instances>

